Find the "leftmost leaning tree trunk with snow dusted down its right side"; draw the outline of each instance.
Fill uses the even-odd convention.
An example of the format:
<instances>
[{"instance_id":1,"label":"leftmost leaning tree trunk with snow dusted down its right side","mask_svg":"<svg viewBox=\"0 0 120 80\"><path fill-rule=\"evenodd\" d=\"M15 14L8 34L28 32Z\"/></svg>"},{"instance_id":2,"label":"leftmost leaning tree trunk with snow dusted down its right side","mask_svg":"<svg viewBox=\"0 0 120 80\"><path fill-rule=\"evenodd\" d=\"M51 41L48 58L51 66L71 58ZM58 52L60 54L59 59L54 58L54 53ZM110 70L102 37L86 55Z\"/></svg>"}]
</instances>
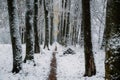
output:
<instances>
[{"instance_id":1,"label":"leftmost leaning tree trunk with snow dusted down its right side","mask_svg":"<svg viewBox=\"0 0 120 80\"><path fill-rule=\"evenodd\" d=\"M17 0L7 0L11 42L13 50L13 69L12 69L13 73L18 73L22 69L22 47L19 33L16 1Z\"/></svg>"}]
</instances>

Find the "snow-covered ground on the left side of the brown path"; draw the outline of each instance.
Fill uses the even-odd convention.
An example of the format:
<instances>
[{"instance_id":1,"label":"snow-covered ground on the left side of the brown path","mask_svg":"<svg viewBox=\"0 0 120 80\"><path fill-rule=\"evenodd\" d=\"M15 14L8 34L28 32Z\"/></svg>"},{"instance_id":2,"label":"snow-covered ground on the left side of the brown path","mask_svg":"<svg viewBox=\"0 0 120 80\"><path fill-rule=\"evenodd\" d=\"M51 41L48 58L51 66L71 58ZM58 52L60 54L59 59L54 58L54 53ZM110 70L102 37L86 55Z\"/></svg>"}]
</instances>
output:
<instances>
[{"instance_id":1,"label":"snow-covered ground on the left side of the brown path","mask_svg":"<svg viewBox=\"0 0 120 80\"><path fill-rule=\"evenodd\" d=\"M12 50L10 45L0 45L0 80L46 80L50 71L52 51L35 54L36 66L23 64L19 74L12 74ZM23 56L25 47L23 46Z\"/></svg>"}]
</instances>

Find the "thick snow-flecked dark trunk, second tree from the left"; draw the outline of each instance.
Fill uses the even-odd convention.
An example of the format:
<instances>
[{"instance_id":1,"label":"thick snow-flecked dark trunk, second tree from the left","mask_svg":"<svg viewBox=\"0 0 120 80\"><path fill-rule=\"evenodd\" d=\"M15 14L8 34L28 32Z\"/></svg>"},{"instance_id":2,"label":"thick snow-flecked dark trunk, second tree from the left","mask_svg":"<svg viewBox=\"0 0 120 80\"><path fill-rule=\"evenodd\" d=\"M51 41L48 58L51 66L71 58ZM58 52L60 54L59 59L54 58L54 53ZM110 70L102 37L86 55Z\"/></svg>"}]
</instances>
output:
<instances>
[{"instance_id":1,"label":"thick snow-flecked dark trunk, second tree from the left","mask_svg":"<svg viewBox=\"0 0 120 80\"><path fill-rule=\"evenodd\" d=\"M26 56L24 62L27 60L34 62L34 34L33 34L33 11L34 1L26 0Z\"/></svg>"}]
</instances>

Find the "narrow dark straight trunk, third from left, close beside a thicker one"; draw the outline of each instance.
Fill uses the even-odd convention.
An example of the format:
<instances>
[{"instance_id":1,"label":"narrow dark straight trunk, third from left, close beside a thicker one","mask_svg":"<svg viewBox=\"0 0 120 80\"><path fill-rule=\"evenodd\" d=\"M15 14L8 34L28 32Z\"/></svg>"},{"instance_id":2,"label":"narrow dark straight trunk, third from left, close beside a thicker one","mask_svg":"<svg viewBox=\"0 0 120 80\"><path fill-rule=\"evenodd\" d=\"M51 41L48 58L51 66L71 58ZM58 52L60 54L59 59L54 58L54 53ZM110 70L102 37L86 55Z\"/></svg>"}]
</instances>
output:
<instances>
[{"instance_id":1,"label":"narrow dark straight trunk, third from left, close beside a thicker one","mask_svg":"<svg viewBox=\"0 0 120 80\"><path fill-rule=\"evenodd\" d=\"M34 52L40 53L39 35L38 35L38 0L34 0Z\"/></svg>"}]
</instances>

